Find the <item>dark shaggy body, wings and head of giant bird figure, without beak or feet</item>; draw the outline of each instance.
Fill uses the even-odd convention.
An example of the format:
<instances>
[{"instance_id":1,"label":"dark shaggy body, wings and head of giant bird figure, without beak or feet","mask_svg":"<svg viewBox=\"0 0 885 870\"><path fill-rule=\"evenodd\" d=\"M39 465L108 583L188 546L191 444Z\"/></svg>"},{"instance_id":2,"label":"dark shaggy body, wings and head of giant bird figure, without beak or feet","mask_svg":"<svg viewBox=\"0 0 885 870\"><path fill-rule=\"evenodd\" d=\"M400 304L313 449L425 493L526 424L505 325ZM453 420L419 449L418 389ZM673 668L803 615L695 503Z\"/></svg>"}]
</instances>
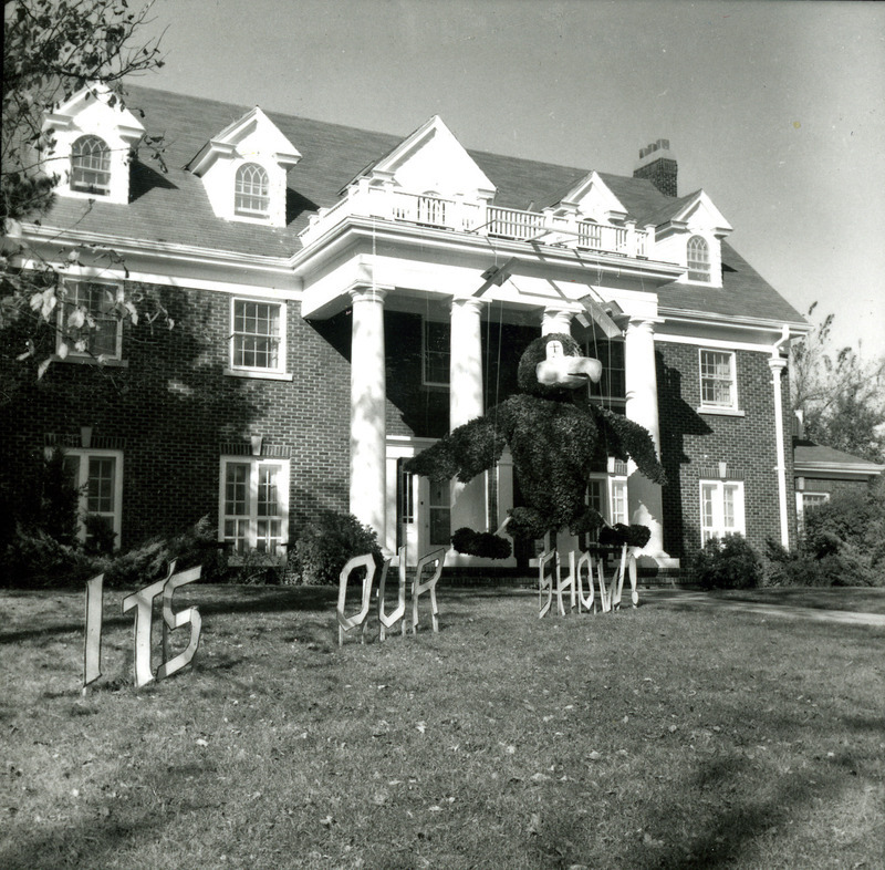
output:
<instances>
[{"instance_id":1,"label":"dark shaggy body, wings and head of giant bird figure, without beak or feet","mask_svg":"<svg viewBox=\"0 0 885 870\"><path fill-rule=\"evenodd\" d=\"M566 355L581 355L569 335L537 339L520 359L522 393L454 429L406 466L435 480L468 481L491 468L508 445L525 499L525 507L511 511L508 531L517 537L541 538L565 528L576 535L598 528L602 518L586 506L585 497L591 468L606 456L633 459L646 477L666 483L645 428L576 397L573 390L538 382L535 366L554 339Z\"/></svg>"}]
</instances>

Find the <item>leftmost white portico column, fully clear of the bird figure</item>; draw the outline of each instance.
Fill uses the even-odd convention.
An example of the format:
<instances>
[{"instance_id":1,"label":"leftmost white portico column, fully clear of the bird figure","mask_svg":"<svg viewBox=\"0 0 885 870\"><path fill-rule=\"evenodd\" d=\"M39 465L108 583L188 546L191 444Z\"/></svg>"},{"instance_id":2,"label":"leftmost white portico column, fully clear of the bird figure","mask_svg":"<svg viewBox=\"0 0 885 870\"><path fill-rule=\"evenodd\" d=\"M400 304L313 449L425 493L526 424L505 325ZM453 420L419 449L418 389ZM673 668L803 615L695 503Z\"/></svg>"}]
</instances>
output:
<instances>
[{"instance_id":1,"label":"leftmost white portico column, fully clear of the bird figure","mask_svg":"<svg viewBox=\"0 0 885 870\"><path fill-rule=\"evenodd\" d=\"M361 287L351 291L351 514L385 538L384 297Z\"/></svg>"}]
</instances>

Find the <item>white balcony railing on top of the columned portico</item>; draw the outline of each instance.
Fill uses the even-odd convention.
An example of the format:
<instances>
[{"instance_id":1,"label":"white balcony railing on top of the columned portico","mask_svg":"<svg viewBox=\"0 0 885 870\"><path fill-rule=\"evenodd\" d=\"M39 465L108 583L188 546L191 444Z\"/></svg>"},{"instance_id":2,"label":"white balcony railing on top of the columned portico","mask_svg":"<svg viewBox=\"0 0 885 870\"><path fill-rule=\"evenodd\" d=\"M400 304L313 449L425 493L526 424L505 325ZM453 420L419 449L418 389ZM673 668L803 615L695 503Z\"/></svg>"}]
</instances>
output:
<instances>
[{"instance_id":1,"label":"white balcony railing on top of the columned portico","mask_svg":"<svg viewBox=\"0 0 885 870\"><path fill-rule=\"evenodd\" d=\"M367 185L350 188L332 208L321 209L313 216L301 232L304 245L310 245L351 215L624 257L648 257L648 234L634 226L613 227L573 216L522 211Z\"/></svg>"}]
</instances>

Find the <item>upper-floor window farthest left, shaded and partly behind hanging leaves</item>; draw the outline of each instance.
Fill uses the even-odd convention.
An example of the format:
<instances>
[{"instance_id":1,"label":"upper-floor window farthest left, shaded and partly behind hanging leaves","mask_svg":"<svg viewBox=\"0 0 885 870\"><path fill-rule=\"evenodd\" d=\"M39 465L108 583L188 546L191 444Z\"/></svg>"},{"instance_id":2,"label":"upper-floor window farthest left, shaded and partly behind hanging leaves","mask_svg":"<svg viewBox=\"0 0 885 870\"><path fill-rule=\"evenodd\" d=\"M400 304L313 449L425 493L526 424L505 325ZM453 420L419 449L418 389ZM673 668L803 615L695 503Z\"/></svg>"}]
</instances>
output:
<instances>
[{"instance_id":1,"label":"upper-floor window farthest left, shaded and partly behind hanging leaves","mask_svg":"<svg viewBox=\"0 0 885 870\"><path fill-rule=\"evenodd\" d=\"M121 288L94 281L67 282L59 307L59 350L74 356L119 360L123 321L114 312Z\"/></svg>"}]
</instances>

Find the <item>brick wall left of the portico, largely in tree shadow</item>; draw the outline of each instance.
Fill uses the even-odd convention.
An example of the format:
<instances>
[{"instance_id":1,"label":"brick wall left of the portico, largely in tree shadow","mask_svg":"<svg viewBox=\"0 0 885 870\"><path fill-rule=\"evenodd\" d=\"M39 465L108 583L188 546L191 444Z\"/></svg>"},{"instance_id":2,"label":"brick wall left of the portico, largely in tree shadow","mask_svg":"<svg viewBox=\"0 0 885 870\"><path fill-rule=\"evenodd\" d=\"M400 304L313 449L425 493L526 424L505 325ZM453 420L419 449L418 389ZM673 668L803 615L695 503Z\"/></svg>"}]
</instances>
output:
<instances>
[{"instance_id":1,"label":"brick wall left of the portico, largely in tree shadow","mask_svg":"<svg viewBox=\"0 0 885 870\"><path fill-rule=\"evenodd\" d=\"M149 288L148 288L149 289ZM291 535L320 508L348 501L350 363L287 305L294 380L222 374L230 297L153 288L175 328L127 325L128 367L53 363L17 390L0 422L4 476L23 493L48 433L124 439L123 532L128 546L218 516L221 445L261 434L291 452Z\"/></svg>"}]
</instances>

